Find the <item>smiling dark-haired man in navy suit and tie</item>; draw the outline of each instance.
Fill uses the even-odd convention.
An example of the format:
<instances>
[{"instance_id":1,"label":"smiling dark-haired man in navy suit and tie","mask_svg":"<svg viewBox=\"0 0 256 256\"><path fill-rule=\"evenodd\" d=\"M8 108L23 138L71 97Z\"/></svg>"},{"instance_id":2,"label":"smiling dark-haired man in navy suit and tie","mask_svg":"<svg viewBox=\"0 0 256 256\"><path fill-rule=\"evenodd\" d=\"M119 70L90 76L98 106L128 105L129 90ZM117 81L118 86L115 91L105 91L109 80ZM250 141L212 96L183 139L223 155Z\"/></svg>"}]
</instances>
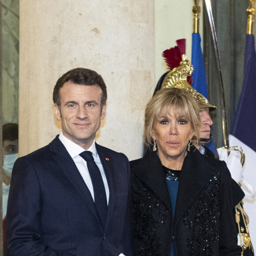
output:
<instances>
[{"instance_id":1,"label":"smiling dark-haired man in navy suit and tie","mask_svg":"<svg viewBox=\"0 0 256 256\"><path fill-rule=\"evenodd\" d=\"M7 247L15 256L131 255L127 157L95 143L107 92L96 72L58 79L54 113L62 132L15 162Z\"/></svg>"}]
</instances>

